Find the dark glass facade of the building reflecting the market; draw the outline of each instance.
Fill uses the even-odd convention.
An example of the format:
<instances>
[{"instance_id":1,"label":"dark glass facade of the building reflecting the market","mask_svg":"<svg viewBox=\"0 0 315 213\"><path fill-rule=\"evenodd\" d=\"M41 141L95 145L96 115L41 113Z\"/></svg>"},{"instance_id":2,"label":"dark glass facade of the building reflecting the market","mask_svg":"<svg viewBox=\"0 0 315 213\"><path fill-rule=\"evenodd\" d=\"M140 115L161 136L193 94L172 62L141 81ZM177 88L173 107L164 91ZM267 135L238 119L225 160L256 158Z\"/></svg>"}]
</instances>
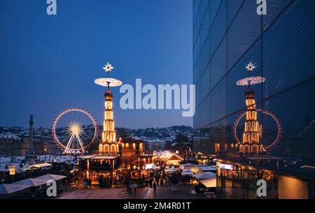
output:
<instances>
[{"instance_id":1,"label":"dark glass facade of the building reflecting the market","mask_svg":"<svg viewBox=\"0 0 315 213\"><path fill-rule=\"evenodd\" d=\"M241 166L225 172L227 178L240 177L238 172L248 164L267 169L267 174L270 169L315 177L315 1L266 2L267 15L258 15L255 0L193 1L194 151L224 162L241 161ZM256 66L251 75L265 78L251 86L260 109L262 144L272 145L265 161L240 158L235 137L241 138L244 131L245 118L237 127L235 121L246 112L247 89L236 83L248 77L246 65L251 61ZM275 119L263 112L271 112ZM279 133L279 142L273 144ZM263 170L250 168L246 175L257 180ZM271 174L274 183L279 172ZM314 182L309 187L314 189ZM279 194L274 184L269 188L275 191L268 193Z\"/></svg>"}]
</instances>

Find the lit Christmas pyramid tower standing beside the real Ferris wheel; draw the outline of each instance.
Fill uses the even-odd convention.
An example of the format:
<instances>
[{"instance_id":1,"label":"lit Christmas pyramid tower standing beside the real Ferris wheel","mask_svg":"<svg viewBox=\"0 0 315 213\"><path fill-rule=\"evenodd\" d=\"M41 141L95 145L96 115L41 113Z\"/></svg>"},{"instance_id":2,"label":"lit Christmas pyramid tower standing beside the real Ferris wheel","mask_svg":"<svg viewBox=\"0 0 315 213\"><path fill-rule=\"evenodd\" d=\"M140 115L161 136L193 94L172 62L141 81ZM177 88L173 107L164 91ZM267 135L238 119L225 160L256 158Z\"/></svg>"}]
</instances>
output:
<instances>
[{"instance_id":1,"label":"lit Christmas pyramid tower standing beside the real Ferris wheel","mask_svg":"<svg viewBox=\"0 0 315 213\"><path fill-rule=\"evenodd\" d=\"M122 85L122 82L120 80L109 78L109 72L113 69L111 64L107 63L103 69L106 71L108 78L99 78L95 80L97 85L107 87L104 94L104 128L102 132L102 141L99 142L99 154L118 154L119 145L116 141L115 122L113 119L113 94L111 93L110 87L120 86Z\"/></svg>"}]
</instances>

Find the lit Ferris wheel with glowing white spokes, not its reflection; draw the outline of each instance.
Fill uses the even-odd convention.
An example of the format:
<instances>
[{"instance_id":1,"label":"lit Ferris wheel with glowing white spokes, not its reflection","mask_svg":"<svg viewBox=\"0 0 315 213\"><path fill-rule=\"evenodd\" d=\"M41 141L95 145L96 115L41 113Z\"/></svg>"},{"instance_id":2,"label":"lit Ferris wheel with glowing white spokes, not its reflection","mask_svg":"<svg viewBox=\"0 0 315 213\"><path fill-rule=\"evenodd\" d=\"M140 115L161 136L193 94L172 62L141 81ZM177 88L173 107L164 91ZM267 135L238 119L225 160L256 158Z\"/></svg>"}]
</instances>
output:
<instances>
[{"instance_id":1,"label":"lit Ferris wheel with glowing white spokes, not its reflection","mask_svg":"<svg viewBox=\"0 0 315 213\"><path fill-rule=\"evenodd\" d=\"M97 140L98 125L94 116L81 108L60 112L52 121L52 137L64 154L81 154Z\"/></svg>"}]
</instances>

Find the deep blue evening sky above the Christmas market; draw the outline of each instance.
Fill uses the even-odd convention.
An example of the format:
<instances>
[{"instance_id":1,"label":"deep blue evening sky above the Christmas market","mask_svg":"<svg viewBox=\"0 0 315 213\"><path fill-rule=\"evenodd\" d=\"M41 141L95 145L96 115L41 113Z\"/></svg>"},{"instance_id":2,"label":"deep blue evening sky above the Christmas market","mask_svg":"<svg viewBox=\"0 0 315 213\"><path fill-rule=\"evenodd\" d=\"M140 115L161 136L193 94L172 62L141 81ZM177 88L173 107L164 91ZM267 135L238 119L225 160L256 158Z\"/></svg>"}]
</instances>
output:
<instances>
[{"instance_id":1,"label":"deep blue evening sky above the Christmas market","mask_svg":"<svg viewBox=\"0 0 315 213\"><path fill-rule=\"evenodd\" d=\"M57 0L48 16L46 0L0 1L0 125L50 127L64 108L92 112L99 123L106 76L135 85L191 84L191 0ZM146 128L190 124L182 110L121 110L114 95L116 126Z\"/></svg>"}]
</instances>

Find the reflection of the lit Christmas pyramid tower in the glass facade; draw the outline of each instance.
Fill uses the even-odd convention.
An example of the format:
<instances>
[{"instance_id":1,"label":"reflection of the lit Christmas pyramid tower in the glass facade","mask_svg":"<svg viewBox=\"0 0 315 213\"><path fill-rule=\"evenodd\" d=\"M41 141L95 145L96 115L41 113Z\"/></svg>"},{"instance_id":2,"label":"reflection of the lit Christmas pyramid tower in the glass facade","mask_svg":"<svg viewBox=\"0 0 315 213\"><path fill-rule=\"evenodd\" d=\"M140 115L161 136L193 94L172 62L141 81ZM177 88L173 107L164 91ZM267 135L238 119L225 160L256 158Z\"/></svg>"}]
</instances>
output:
<instances>
[{"instance_id":1,"label":"reflection of the lit Christmas pyramid tower in the glass facade","mask_svg":"<svg viewBox=\"0 0 315 213\"><path fill-rule=\"evenodd\" d=\"M246 67L247 71L251 73L255 68L254 64L250 63ZM241 154L261 154L265 152L265 149L262 145L262 125L259 124L257 119L257 109L255 103L255 92L251 88L251 85L262 83L265 81L265 78L260 76L257 77L248 77L237 82L237 85L248 85L248 88L245 92L246 97L246 121L244 126L243 138L241 144L239 145L239 152Z\"/></svg>"}]
</instances>

